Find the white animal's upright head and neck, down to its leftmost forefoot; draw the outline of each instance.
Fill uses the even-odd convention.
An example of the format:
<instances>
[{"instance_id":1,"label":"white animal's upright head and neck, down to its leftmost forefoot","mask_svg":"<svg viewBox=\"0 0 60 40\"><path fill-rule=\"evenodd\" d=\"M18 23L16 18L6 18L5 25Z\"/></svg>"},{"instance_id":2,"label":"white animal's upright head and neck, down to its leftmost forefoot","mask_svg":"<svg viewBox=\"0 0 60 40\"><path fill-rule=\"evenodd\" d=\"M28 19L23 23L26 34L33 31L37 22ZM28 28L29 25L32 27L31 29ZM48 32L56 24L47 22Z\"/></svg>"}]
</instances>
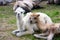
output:
<instances>
[{"instance_id":1,"label":"white animal's upright head and neck, down to its leftmost forefoot","mask_svg":"<svg viewBox=\"0 0 60 40\"><path fill-rule=\"evenodd\" d=\"M17 19L17 30L14 30L12 33L16 34L19 31L22 31L22 24L23 24L23 17L24 17L24 12L25 10L23 10L21 7L18 7L15 11L16 13L16 19Z\"/></svg>"}]
</instances>

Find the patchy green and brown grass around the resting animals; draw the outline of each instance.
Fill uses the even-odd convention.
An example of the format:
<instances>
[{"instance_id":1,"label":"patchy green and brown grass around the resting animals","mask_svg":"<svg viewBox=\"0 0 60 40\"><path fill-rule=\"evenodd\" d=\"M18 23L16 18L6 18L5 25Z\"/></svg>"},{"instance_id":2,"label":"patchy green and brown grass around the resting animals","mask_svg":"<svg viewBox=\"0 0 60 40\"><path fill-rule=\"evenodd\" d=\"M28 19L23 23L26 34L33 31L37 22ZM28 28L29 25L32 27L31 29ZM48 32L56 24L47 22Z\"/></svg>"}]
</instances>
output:
<instances>
[{"instance_id":1,"label":"patchy green and brown grass around the resting animals","mask_svg":"<svg viewBox=\"0 0 60 40\"><path fill-rule=\"evenodd\" d=\"M46 13L53 22L60 22L59 5L45 5L43 9L34 9L32 12ZM0 6L0 36L4 35L0 40L38 40L33 35L16 37L11 34L14 29L16 29L16 18L12 6ZM54 40L60 40L60 35L55 35Z\"/></svg>"}]
</instances>

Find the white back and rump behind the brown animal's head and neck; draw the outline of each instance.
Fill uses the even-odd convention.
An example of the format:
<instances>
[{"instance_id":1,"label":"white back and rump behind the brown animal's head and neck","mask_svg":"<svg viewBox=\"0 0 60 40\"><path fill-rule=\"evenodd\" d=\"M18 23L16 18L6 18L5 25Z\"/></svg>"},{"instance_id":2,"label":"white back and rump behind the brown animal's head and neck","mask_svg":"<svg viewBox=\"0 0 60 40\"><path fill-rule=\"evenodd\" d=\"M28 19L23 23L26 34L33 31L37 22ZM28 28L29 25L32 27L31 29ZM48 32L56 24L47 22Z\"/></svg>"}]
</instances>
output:
<instances>
[{"instance_id":1,"label":"white back and rump behind the brown animal's head and neck","mask_svg":"<svg viewBox=\"0 0 60 40\"><path fill-rule=\"evenodd\" d=\"M45 24L46 22L47 22L48 24L52 24L52 23L53 23L52 20L51 20L51 18L50 18L47 14L41 13L41 12L38 12L38 13L36 13L36 14L40 14L39 19L40 19L40 21L42 21L44 24Z\"/></svg>"}]
</instances>

